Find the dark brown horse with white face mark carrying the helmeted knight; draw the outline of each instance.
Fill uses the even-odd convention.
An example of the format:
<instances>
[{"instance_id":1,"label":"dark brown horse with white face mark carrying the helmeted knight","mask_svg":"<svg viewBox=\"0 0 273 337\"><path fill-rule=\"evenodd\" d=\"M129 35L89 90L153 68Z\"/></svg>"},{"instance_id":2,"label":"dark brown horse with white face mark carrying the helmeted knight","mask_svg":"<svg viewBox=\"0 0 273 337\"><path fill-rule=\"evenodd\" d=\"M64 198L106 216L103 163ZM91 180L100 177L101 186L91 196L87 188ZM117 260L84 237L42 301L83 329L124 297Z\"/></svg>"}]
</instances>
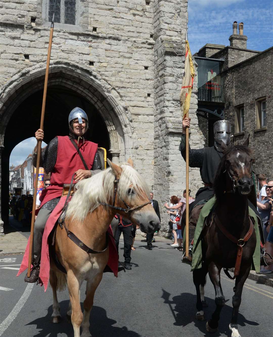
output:
<instances>
[{"instance_id":1,"label":"dark brown horse with white face mark carrying the helmeted knight","mask_svg":"<svg viewBox=\"0 0 273 337\"><path fill-rule=\"evenodd\" d=\"M248 213L247 196L253 187L251 178L252 151L248 148L248 139L242 146L225 148L224 156L218 166L214 178L216 204L214 220L204 226L202 231L202 268L193 271L193 282L196 287L198 310L196 318L203 320L204 285L209 273L215 289L216 309L206 324L209 332L216 332L220 312L225 303L220 283L222 268L235 267L238 245L242 245L242 261L240 271L235 280L234 296L232 298L233 313L230 324L232 337L240 337L237 326L238 311L241 304L243 285L251 269L252 256L256 246L255 231L250 235L250 218ZM217 220L215 220L215 218ZM252 227L253 228L253 227ZM225 234L223 234L225 233ZM228 236L242 240L249 233L247 242L238 245ZM202 297L202 299L201 299ZM202 302L203 300L203 302ZM204 305L207 306L207 305Z\"/></svg>"}]
</instances>

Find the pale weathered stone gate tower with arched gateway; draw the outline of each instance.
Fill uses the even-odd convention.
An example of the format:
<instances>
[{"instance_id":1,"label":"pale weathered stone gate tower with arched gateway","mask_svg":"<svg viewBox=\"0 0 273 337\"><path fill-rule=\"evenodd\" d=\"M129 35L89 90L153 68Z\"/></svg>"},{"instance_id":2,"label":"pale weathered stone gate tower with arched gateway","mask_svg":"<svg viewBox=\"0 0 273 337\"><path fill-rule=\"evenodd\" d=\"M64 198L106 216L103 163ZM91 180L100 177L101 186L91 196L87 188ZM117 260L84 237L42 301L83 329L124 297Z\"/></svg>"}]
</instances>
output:
<instances>
[{"instance_id":1,"label":"pale weathered stone gate tower with arched gateway","mask_svg":"<svg viewBox=\"0 0 273 337\"><path fill-rule=\"evenodd\" d=\"M39 127L55 0L0 3L3 225L10 152ZM89 139L105 147L116 163L132 157L160 208L185 188L179 93L186 25L187 0L57 0L45 141L66 135L68 114L80 106L89 116ZM194 92L192 148L203 144ZM192 170L192 194L200 185L199 170ZM168 228L163 211L162 225Z\"/></svg>"}]
</instances>

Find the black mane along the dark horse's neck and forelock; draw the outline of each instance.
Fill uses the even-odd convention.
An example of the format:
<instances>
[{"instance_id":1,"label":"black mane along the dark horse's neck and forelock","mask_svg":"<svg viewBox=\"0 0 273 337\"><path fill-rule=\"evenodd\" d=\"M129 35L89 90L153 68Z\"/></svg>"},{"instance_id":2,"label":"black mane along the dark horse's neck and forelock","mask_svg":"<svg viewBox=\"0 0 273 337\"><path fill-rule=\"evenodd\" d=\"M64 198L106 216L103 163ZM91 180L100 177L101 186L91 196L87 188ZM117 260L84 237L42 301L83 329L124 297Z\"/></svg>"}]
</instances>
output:
<instances>
[{"instance_id":1,"label":"black mane along the dark horse's neck and forelock","mask_svg":"<svg viewBox=\"0 0 273 337\"><path fill-rule=\"evenodd\" d=\"M214 176L214 184L213 188L215 191L216 196L216 204L219 204L222 200L222 197L224 196L224 191L226 189L226 181L225 181L225 162L226 157L233 151L243 151L246 154L252 156L252 150L246 146L246 145L234 145L232 147L227 148L224 151L224 155L220 160L218 169L216 171L216 174Z\"/></svg>"}]
</instances>

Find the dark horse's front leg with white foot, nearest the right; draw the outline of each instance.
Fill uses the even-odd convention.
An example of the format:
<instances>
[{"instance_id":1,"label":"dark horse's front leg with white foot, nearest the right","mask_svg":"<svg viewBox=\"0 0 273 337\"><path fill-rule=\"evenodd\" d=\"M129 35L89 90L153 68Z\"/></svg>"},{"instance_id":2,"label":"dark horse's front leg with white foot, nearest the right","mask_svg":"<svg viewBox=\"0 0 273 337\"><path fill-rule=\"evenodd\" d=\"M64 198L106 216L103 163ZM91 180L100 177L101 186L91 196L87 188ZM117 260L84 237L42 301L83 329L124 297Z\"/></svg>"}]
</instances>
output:
<instances>
[{"instance_id":1,"label":"dark horse's front leg with white foot, nearest the right","mask_svg":"<svg viewBox=\"0 0 273 337\"><path fill-rule=\"evenodd\" d=\"M245 267L243 266L243 264L241 264L240 273L235 280L235 294L232 298L233 312L230 324L230 330L232 331L231 337L241 337L238 332L238 325L237 325L238 312L241 304L243 286L250 272L250 268L251 266Z\"/></svg>"}]
</instances>

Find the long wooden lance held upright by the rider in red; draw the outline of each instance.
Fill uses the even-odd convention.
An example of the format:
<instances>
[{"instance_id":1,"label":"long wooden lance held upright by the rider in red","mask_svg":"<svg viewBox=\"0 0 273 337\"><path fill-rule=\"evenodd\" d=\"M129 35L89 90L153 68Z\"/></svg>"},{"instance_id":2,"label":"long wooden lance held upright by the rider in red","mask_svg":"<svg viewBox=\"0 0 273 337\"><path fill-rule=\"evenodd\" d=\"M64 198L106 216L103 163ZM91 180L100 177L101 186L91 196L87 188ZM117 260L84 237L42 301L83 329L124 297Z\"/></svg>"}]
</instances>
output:
<instances>
[{"instance_id":1,"label":"long wooden lance held upright by the rider in red","mask_svg":"<svg viewBox=\"0 0 273 337\"><path fill-rule=\"evenodd\" d=\"M56 3L57 3L57 0L55 0L54 11L53 11L53 16L52 16L52 21L51 21L51 27L50 27L46 76L44 78L44 87L43 87L43 102L42 102L42 112L41 112L41 121L40 121L40 129L42 129L42 130L43 130L43 121L44 121L44 110L46 108L49 63L50 63L51 46L52 46L52 38L53 38L53 30L54 30L54 14L55 14L55 9L56 9ZM37 145L36 145L37 164L36 164L36 176L35 176L35 183L34 183L32 216L31 216L31 229L30 229L30 240L29 240L28 273L27 273L28 277L30 277L31 263L32 263L32 246L33 246L33 234L34 234L34 221L35 221L35 209L36 209L38 176L39 176L40 158L41 158L41 145L42 145L42 141L41 140L37 140Z\"/></svg>"}]
</instances>

